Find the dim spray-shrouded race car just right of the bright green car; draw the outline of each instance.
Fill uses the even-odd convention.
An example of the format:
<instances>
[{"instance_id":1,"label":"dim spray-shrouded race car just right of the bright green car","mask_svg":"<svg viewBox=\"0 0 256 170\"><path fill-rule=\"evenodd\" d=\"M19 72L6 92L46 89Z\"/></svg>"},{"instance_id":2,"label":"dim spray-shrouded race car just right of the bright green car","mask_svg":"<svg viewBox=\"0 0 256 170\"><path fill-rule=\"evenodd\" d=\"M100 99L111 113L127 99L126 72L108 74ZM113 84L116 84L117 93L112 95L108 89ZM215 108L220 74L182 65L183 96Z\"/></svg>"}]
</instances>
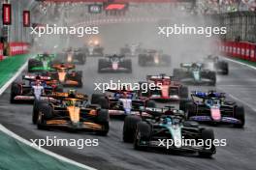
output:
<instances>
[{"instance_id":1,"label":"dim spray-shrouded race car just right of the bright green car","mask_svg":"<svg viewBox=\"0 0 256 170\"><path fill-rule=\"evenodd\" d=\"M86 54L80 48L68 49L57 54L54 63L71 63L76 65L84 65L86 63Z\"/></svg>"}]
</instances>

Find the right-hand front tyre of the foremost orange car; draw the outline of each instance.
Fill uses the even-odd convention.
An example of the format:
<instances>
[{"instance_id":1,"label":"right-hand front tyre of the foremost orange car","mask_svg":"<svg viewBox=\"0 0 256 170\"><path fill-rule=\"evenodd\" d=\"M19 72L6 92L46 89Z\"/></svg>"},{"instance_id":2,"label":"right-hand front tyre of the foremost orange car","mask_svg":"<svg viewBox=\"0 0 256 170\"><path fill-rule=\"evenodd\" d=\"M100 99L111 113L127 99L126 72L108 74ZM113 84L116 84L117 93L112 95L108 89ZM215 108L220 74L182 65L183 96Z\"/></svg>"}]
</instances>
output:
<instances>
[{"instance_id":1,"label":"right-hand front tyre of the foremost orange car","mask_svg":"<svg viewBox=\"0 0 256 170\"><path fill-rule=\"evenodd\" d=\"M98 117L97 117L97 123L100 124L103 129L97 131L96 133L99 135L106 136L110 130L110 114L108 110L106 109L101 109L98 112Z\"/></svg>"}]
</instances>

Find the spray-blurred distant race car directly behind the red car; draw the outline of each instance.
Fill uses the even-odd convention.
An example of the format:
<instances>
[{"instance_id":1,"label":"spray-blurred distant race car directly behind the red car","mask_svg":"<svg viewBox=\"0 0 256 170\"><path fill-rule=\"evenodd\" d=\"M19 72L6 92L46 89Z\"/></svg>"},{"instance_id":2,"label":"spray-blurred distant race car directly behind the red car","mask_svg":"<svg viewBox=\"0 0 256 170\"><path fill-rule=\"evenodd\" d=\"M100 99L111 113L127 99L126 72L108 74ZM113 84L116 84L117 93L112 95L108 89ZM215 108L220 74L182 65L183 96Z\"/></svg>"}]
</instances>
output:
<instances>
[{"instance_id":1,"label":"spray-blurred distant race car directly behind the red car","mask_svg":"<svg viewBox=\"0 0 256 170\"><path fill-rule=\"evenodd\" d=\"M163 54L162 51L144 50L144 53L139 54L140 66L170 66L171 56Z\"/></svg>"}]
</instances>

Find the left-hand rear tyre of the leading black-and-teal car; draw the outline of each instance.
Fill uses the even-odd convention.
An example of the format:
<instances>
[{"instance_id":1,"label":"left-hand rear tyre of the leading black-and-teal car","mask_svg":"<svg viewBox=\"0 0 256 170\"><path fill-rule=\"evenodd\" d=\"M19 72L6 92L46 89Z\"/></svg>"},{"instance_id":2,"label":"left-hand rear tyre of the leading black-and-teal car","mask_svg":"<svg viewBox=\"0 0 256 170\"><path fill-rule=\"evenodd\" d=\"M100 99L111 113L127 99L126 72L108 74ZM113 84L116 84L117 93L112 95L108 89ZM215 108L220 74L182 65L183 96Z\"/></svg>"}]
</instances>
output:
<instances>
[{"instance_id":1,"label":"left-hand rear tyre of the leading black-and-teal car","mask_svg":"<svg viewBox=\"0 0 256 170\"><path fill-rule=\"evenodd\" d=\"M132 143L134 142L134 136L137 128L137 124L142 121L142 118L138 116L126 116L123 124L123 141Z\"/></svg>"}]
</instances>

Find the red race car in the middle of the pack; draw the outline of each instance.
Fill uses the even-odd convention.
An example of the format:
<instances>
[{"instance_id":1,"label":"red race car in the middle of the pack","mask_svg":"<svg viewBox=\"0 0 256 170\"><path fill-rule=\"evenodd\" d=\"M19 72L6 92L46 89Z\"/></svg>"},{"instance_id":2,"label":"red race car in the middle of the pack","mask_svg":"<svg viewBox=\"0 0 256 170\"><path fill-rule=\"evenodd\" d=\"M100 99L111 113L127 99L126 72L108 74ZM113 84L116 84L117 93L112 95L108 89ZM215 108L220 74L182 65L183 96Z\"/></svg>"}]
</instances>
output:
<instances>
[{"instance_id":1,"label":"red race car in the middle of the pack","mask_svg":"<svg viewBox=\"0 0 256 170\"><path fill-rule=\"evenodd\" d=\"M142 90L138 91L139 97L147 97L157 101L180 101L188 98L188 88L181 85L177 81L172 80L172 76L168 76L164 73L160 75L147 75L146 82L142 83L154 83L157 88L147 89L145 93ZM148 85L147 87L150 87Z\"/></svg>"}]
</instances>

